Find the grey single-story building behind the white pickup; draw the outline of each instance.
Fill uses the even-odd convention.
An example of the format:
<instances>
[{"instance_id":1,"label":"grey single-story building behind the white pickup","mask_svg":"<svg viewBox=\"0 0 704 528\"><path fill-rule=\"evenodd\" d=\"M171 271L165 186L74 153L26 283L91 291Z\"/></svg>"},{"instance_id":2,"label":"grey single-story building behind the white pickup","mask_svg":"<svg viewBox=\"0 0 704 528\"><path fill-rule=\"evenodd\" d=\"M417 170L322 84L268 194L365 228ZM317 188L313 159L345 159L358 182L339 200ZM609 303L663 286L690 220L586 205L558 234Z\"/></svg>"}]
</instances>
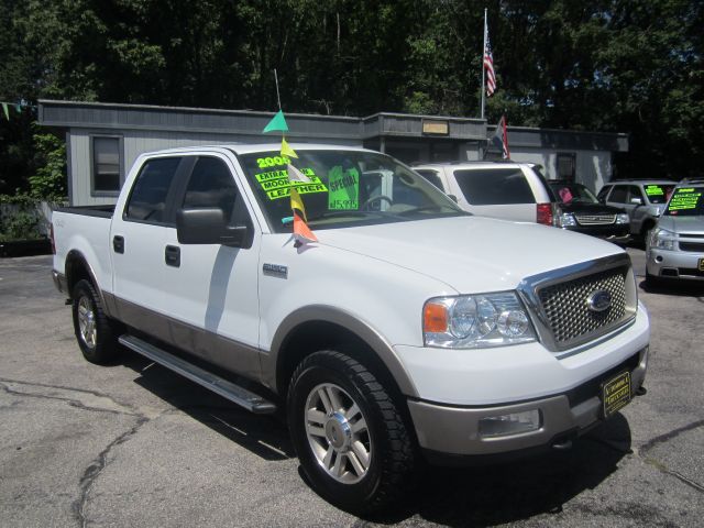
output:
<instances>
[{"instance_id":1,"label":"grey single-story building behind the white pickup","mask_svg":"<svg viewBox=\"0 0 704 528\"><path fill-rule=\"evenodd\" d=\"M143 152L186 145L276 142L262 134L275 112L77 101L38 101L38 122L65 132L68 198L74 206L114 204ZM286 113L289 142L365 146L413 163L499 157L487 148L485 120L382 112L366 118ZM610 179L626 134L508 128L512 160L543 167L592 190Z\"/></svg>"}]
</instances>

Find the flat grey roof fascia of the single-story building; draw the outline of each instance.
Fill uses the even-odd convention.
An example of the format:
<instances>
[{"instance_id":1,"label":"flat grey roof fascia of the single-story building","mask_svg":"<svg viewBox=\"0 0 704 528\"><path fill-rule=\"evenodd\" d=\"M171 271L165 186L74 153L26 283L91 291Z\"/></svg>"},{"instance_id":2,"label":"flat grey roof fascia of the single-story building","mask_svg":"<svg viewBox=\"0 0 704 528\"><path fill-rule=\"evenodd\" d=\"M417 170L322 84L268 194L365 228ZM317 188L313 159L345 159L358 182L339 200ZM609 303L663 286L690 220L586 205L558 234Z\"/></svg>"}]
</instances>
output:
<instances>
[{"instance_id":1,"label":"flat grey roof fascia of the single-story building","mask_svg":"<svg viewBox=\"0 0 704 528\"><path fill-rule=\"evenodd\" d=\"M38 122L62 129L102 131L168 131L239 135L262 139L274 112L209 108L158 107L108 102L38 101ZM321 142L364 141L380 138L483 142L495 127L485 120L448 116L380 112L365 118L286 113L287 138ZM628 135L572 130L509 127L512 147L601 150L627 152Z\"/></svg>"}]
</instances>

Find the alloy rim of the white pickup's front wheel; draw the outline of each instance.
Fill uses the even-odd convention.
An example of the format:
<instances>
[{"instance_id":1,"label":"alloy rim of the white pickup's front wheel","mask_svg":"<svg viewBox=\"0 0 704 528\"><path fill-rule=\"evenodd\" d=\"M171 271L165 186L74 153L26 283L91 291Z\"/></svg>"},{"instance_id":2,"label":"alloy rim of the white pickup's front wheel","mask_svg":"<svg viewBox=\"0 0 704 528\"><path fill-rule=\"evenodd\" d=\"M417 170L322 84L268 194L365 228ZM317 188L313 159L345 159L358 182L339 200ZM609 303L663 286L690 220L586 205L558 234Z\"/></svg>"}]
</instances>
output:
<instances>
[{"instance_id":1,"label":"alloy rim of the white pickup's front wheel","mask_svg":"<svg viewBox=\"0 0 704 528\"><path fill-rule=\"evenodd\" d=\"M372 463L372 438L360 406L332 383L316 386L305 408L306 436L318 464L338 482L355 484Z\"/></svg>"}]
</instances>

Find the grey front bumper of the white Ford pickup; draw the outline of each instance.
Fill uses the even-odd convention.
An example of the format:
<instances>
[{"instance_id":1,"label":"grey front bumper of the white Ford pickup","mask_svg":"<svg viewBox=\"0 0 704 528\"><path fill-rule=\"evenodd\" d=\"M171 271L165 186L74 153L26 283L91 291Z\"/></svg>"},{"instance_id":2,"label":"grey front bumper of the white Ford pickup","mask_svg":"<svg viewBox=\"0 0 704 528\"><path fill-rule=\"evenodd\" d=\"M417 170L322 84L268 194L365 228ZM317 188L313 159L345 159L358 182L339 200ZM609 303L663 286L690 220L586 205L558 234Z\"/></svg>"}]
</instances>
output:
<instances>
[{"instance_id":1,"label":"grey front bumper of the white Ford pickup","mask_svg":"<svg viewBox=\"0 0 704 528\"><path fill-rule=\"evenodd\" d=\"M496 406L459 407L409 400L408 407L420 447L431 461L464 463L463 458L560 447L586 432L602 418L601 385L625 370L631 376L631 397L642 386L648 363L648 346L571 391L549 397ZM539 410L540 428L535 431L498 438L482 438L482 418ZM450 455L450 457L448 457ZM451 462L449 462L451 461Z\"/></svg>"}]
</instances>

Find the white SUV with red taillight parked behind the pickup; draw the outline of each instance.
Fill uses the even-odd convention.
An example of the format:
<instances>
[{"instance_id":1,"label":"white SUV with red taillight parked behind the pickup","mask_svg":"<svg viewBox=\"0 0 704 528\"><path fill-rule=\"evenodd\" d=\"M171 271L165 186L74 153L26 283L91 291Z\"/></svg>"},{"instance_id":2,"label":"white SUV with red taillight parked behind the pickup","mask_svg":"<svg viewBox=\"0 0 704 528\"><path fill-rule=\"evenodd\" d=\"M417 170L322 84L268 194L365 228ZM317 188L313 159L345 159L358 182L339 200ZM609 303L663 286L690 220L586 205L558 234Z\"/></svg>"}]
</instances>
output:
<instances>
[{"instance_id":1,"label":"white SUV with red taillight parked behind the pickup","mask_svg":"<svg viewBox=\"0 0 704 528\"><path fill-rule=\"evenodd\" d=\"M529 164L460 162L417 165L414 170L474 215L554 223L554 195L542 175Z\"/></svg>"}]
</instances>

